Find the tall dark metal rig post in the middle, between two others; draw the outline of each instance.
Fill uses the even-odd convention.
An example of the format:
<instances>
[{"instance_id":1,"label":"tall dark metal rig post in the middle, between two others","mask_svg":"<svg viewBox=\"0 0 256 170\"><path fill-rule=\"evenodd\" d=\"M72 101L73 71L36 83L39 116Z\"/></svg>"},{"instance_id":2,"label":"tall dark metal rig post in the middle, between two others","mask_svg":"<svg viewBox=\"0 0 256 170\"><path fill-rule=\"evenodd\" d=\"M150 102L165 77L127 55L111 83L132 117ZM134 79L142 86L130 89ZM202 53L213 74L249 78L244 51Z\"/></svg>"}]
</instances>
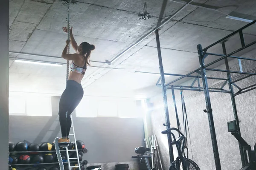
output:
<instances>
[{"instance_id":1,"label":"tall dark metal rig post in the middle, between two others","mask_svg":"<svg viewBox=\"0 0 256 170\"><path fill-rule=\"evenodd\" d=\"M210 101L206 70L204 68L204 56L202 56L203 55L202 45L201 44L197 45L197 48L198 48L198 57L199 57L199 62L200 62L200 70L201 70L202 81L203 81L207 114L208 114L208 119L209 119L209 127L210 127L211 139L212 139L212 150L213 150L213 154L214 154L215 167L216 167L216 170L221 170L221 161L220 161L220 156L218 153L218 144L217 144L215 127L214 127L213 116L212 116L212 105L211 105L211 101Z\"/></svg>"}]
</instances>

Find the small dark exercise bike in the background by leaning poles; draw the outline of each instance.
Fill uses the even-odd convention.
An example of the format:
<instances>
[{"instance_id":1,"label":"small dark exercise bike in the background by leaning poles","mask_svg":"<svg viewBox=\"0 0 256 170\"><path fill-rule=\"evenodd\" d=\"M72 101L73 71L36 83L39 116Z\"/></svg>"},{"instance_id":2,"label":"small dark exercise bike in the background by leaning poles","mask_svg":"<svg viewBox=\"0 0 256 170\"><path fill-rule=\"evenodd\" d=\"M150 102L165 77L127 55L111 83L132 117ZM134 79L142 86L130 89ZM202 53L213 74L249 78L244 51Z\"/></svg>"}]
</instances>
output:
<instances>
[{"instance_id":1,"label":"small dark exercise bike in the background by leaning poles","mask_svg":"<svg viewBox=\"0 0 256 170\"><path fill-rule=\"evenodd\" d=\"M150 151L149 148L136 147L135 148L135 153L140 154L140 155L131 156L131 158L140 159L140 163L145 161L148 170L156 170L155 168L151 169L151 167L150 167L148 158L151 158L151 153L149 151Z\"/></svg>"}]
</instances>

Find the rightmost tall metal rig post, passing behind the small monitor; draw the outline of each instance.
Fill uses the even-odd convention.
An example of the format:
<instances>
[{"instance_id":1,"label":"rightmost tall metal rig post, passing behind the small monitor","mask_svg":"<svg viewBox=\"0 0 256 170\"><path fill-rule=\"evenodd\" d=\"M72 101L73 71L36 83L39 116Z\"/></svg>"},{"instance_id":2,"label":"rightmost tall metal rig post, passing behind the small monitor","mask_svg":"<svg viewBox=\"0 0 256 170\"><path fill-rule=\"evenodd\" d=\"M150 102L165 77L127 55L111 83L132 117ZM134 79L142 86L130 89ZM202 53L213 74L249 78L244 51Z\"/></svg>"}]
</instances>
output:
<instances>
[{"instance_id":1,"label":"rightmost tall metal rig post, passing behind the small monitor","mask_svg":"<svg viewBox=\"0 0 256 170\"><path fill-rule=\"evenodd\" d=\"M227 55L225 42L221 42L221 44L222 44L223 54ZM230 68L229 68L229 64L228 64L227 58L225 58L225 65L226 65L226 70L229 71ZM234 96L233 84L231 84L232 78L231 78L230 73L227 73L227 79L228 79L228 86L229 86L229 89L230 89L230 92L231 92L230 96L231 96L231 102L232 102L232 107L233 107L233 114L234 114L234 118L235 118L236 125L237 125L237 131L241 135L241 133L240 133L240 126L239 126L239 118L238 118L238 114L237 114L237 110L236 110L236 100L235 100L235 96ZM240 150L242 165L244 166L245 165L245 162L244 162L244 151L243 151L243 147L241 146L240 143L239 143L239 150Z\"/></svg>"}]
</instances>

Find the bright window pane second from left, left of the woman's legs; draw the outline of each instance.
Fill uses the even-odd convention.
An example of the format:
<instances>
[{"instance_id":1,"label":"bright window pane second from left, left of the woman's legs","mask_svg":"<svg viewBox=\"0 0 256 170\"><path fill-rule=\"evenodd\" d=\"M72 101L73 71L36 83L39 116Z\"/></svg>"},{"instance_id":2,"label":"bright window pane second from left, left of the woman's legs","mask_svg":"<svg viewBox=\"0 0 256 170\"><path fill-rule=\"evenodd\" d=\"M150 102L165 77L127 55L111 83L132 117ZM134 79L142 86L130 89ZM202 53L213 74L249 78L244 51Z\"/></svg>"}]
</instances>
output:
<instances>
[{"instance_id":1,"label":"bright window pane second from left, left of the woman's legs","mask_svg":"<svg viewBox=\"0 0 256 170\"><path fill-rule=\"evenodd\" d=\"M26 99L27 116L52 116L50 97L29 97Z\"/></svg>"}]
</instances>

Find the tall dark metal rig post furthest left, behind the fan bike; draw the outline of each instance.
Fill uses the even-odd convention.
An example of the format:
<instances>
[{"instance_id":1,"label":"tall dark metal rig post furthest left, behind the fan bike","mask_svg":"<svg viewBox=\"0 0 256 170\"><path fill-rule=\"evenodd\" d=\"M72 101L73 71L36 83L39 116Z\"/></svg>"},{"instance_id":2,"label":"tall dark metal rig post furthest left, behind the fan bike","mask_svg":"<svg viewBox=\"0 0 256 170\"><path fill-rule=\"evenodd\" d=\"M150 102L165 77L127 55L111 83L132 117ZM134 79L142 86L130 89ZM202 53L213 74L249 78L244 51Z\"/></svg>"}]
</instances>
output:
<instances>
[{"instance_id":1,"label":"tall dark metal rig post furthest left, behind the fan bike","mask_svg":"<svg viewBox=\"0 0 256 170\"><path fill-rule=\"evenodd\" d=\"M164 78L164 72L163 72L163 61L162 61L162 55L161 55L161 47L160 47L160 40L159 40L159 33L158 29L155 31L156 34L156 40L157 40L157 52L158 52L158 59L159 59L159 69L161 74L161 87L162 87L162 93L163 93L163 105L164 105L164 111L165 111L165 118L166 118L166 129L168 130L171 127L170 119L169 119L169 110L168 110L168 103L167 103L167 96L166 96L166 89L168 86L165 86L165 78ZM172 148L172 136L170 133L167 134L168 138L168 146L169 146L169 156L170 156L170 163L174 161L173 156L173 148Z\"/></svg>"}]
</instances>

